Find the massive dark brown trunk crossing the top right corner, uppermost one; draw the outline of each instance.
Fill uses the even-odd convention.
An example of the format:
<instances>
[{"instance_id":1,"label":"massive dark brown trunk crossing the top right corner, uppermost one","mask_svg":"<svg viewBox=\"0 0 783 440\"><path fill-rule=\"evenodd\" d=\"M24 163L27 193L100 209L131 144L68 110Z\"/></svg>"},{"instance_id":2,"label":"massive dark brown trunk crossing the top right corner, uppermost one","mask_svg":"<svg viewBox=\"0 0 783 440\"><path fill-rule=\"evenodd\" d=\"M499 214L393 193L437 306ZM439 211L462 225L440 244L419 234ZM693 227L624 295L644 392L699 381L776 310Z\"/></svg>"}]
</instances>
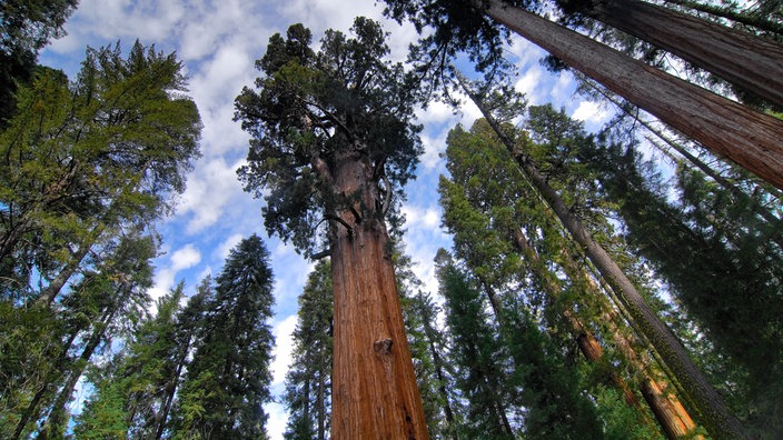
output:
<instances>
[{"instance_id":1,"label":"massive dark brown trunk crossing the top right corner, uppermost one","mask_svg":"<svg viewBox=\"0 0 783 440\"><path fill-rule=\"evenodd\" d=\"M597 0L583 12L783 106L783 47L638 0Z\"/></svg>"}]
</instances>

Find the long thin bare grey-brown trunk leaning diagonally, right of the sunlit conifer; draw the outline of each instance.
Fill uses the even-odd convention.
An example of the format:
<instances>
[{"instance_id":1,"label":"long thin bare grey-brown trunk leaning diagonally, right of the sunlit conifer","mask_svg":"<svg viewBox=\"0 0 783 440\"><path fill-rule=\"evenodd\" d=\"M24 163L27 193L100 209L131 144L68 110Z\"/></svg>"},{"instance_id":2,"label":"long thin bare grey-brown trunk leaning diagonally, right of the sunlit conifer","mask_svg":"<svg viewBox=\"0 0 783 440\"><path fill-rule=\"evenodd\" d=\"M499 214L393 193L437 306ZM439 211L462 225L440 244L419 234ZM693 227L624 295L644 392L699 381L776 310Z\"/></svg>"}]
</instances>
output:
<instances>
[{"instance_id":1,"label":"long thin bare grey-brown trunk leaning diagonally, right of the sunlit conifer","mask_svg":"<svg viewBox=\"0 0 783 440\"><path fill-rule=\"evenodd\" d=\"M698 409L703 422L707 426L711 434L721 439L745 438L746 436L740 421L729 411L723 398L691 360L674 333L655 316L655 312L638 293L636 287L634 287L606 250L593 240L593 237L579 219L565 204L559 194L549 187L546 178L541 174L522 151L517 150L517 146L504 134L497 121L484 106L480 97L468 90L467 84L464 82L463 87L519 163L531 184L537 189L574 240L584 249L587 258L598 269L623 306L628 310L635 324L650 339L655 350L665 360L666 366L682 382L687 397Z\"/></svg>"}]
</instances>

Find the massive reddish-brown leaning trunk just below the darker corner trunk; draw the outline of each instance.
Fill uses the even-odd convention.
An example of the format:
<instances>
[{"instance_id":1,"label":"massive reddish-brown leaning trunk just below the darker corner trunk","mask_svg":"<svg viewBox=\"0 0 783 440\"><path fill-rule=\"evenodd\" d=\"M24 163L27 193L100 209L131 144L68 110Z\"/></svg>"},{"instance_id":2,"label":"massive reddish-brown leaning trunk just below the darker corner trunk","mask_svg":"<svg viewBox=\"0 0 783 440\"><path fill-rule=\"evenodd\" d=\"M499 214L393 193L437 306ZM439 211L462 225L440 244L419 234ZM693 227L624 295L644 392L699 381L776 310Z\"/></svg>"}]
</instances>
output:
<instances>
[{"instance_id":1,"label":"massive reddish-brown leaning trunk just below the darker corner trunk","mask_svg":"<svg viewBox=\"0 0 783 440\"><path fill-rule=\"evenodd\" d=\"M488 17L713 152L783 189L783 121L631 59L521 8L505 7L502 0L487 3L484 12Z\"/></svg>"}]
</instances>

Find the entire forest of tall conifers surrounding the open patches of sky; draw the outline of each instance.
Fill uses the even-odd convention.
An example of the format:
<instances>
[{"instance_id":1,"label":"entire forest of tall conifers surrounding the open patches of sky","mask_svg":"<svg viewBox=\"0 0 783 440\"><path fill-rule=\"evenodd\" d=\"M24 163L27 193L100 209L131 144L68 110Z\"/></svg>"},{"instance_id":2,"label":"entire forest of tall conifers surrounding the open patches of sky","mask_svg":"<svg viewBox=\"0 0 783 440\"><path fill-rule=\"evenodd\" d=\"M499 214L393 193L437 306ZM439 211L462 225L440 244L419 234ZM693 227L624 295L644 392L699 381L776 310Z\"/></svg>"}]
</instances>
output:
<instances>
[{"instance_id":1,"label":"entire forest of tall conifers surrounding the open patches of sky","mask_svg":"<svg viewBox=\"0 0 783 440\"><path fill-rule=\"evenodd\" d=\"M117 42L69 78L39 52L78 1L0 7L0 438L277 439L271 403L290 440L783 437L783 7L381 3L405 62L366 17L254 42L236 179L266 236L159 298L210 153L185 62ZM612 117L528 102L519 37ZM444 131L427 283L434 103L479 116ZM281 392L270 238L309 261Z\"/></svg>"}]
</instances>

